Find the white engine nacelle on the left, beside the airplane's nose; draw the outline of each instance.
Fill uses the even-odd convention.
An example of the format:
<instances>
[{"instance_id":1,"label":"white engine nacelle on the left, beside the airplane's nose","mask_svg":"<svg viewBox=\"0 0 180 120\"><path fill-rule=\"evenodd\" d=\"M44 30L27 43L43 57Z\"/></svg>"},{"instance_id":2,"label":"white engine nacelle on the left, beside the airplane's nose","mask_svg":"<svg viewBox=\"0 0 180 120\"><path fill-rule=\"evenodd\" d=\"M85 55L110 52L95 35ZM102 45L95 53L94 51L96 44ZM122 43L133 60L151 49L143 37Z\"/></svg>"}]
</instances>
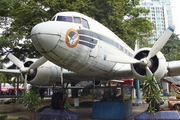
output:
<instances>
[{"instance_id":1,"label":"white engine nacelle on the left, beside the airplane's nose","mask_svg":"<svg viewBox=\"0 0 180 120\"><path fill-rule=\"evenodd\" d=\"M24 63L25 67L29 67L37 59L30 59ZM52 85L54 82L60 82L61 68L47 61L36 69L31 69L27 75L27 82L34 85ZM25 74L22 74L25 79Z\"/></svg>"}]
</instances>

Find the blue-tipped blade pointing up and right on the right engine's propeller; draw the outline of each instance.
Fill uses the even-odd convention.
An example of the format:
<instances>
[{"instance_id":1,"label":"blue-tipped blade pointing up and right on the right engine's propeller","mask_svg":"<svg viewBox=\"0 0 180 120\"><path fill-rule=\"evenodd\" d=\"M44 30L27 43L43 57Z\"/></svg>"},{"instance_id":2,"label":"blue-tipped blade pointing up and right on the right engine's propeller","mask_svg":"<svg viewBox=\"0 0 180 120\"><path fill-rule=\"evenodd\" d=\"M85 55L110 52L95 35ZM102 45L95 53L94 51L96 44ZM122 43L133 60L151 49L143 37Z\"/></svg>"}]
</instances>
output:
<instances>
[{"instance_id":1,"label":"blue-tipped blade pointing up and right on the right engine's propeller","mask_svg":"<svg viewBox=\"0 0 180 120\"><path fill-rule=\"evenodd\" d=\"M161 35L161 37L156 41L156 43L151 48L147 59L149 60L151 57L156 55L162 47L166 44L166 42L169 40L170 36L174 32L175 26L169 26L168 29Z\"/></svg>"}]
</instances>

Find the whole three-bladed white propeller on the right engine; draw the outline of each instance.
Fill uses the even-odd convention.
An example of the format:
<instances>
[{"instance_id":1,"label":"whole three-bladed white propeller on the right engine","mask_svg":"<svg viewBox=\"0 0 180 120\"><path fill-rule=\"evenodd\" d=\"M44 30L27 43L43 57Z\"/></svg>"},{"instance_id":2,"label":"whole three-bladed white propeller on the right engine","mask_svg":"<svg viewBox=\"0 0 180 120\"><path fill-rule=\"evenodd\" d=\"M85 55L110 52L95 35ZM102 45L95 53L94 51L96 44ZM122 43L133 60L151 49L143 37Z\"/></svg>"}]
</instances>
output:
<instances>
[{"instance_id":1,"label":"whole three-bladed white propeller on the right engine","mask_svg":"<svg viewBox=\"0 0 180 120\"><path fill-rule=\"evenodd\" d=\"M156 43L153 45L153 47L150 49L150 52L148 53L148 56L145 58L142 58L141 60L137 60L135 58L132 58L130 56L118 56L118 55L105 55L104 60L107 61L112 61L112 62L117 62L117 63L129 63L129 64L134 64L134 63L139 63L142 66L144 66L146 70L146 75L147 76L152 76L153 73L149 69L150 65L150 59L154 57L166 44L172 33L174 32L175 26L169 26L167 30L161 35L161 37L156 41Z\"/></svg>"}]
</instances>

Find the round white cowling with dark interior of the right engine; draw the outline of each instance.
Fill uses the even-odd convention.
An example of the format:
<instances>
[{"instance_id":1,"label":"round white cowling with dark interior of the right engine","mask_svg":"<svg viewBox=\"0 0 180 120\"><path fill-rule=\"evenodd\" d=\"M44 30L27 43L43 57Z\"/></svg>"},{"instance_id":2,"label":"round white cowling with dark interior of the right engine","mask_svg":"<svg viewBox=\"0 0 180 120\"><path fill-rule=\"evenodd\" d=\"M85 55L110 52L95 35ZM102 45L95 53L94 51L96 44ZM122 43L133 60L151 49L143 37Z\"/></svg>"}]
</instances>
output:
<instances>
[{"instance_id":1,"label":"round white cowling with dark interior of the right engine","mask_svg":"<svg viewBox=\"0 0 180 120\"><path fill-rule=\"evenodd\" d=\"M141 60L148 56L150 48L139 49L135 54L134 58ZM150 59L148 64L149 69L154 74L157 81L159 81L167 73L167 63L164 55L161 52L158 52L154 57ZM133 74L139 80L144 80L146 76L145 68L140 64L132 64L131 69Z\"/></svg>"}]
</instances>

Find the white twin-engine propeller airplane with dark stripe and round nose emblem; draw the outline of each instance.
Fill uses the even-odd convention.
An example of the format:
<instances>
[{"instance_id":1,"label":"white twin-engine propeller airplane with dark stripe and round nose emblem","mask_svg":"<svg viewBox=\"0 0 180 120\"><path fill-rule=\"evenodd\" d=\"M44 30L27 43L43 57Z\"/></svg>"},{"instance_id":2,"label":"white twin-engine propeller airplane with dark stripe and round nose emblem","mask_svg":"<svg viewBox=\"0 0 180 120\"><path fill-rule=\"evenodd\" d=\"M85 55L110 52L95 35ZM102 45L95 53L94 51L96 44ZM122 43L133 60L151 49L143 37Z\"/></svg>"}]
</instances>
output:
<instances>
[{"instance_id":1,"label":"white twin-engine propeller airplane with dark stripe and round nose emblem","mask_svg":"<svg viewBox=\"0 0 180 120\"><path fill-rule=\"evenodd\" d=\"M39 85L53 83L56 78L64 81L144 80L154 75L155 80L160 81L165 76L180 74L180 61L167 62L160 52L174 30L174 25L169 26L152 48L134 51L98 21L78 12L59 12L50 21L32 28L32 43L42 55L40 59L26 65L11 53L6 56L19 67L24 78L29 77L30 82ZM51 70L47 62L59 68Z\"/></svg>"}]
</instances>

